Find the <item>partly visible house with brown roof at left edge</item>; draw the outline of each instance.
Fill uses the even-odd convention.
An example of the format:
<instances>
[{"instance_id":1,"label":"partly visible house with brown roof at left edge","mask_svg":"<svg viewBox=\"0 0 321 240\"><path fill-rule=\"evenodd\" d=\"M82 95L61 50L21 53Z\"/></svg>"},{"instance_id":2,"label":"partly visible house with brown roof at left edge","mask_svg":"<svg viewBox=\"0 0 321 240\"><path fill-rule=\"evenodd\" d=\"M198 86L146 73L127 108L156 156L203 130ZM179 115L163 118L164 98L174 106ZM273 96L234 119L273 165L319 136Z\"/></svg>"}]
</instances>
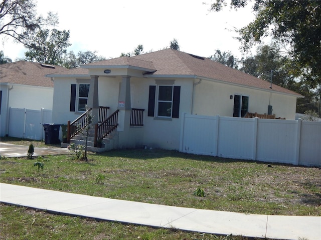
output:
<instances>
[{"instance_id":1,"label":"partly visible house with brown roof at left edge","mask_svg":"<svg viewBox=\"0 0 321 240\"><path fill-rule=\"evenodd\" d=\"M0 65L1 95L1 136L9 132L10 108L28 108L40 110L52 109L54 83L46 74L65 70L62 66L53 66L30 61L17 61Z\"/></svg>"}]
</instances>

